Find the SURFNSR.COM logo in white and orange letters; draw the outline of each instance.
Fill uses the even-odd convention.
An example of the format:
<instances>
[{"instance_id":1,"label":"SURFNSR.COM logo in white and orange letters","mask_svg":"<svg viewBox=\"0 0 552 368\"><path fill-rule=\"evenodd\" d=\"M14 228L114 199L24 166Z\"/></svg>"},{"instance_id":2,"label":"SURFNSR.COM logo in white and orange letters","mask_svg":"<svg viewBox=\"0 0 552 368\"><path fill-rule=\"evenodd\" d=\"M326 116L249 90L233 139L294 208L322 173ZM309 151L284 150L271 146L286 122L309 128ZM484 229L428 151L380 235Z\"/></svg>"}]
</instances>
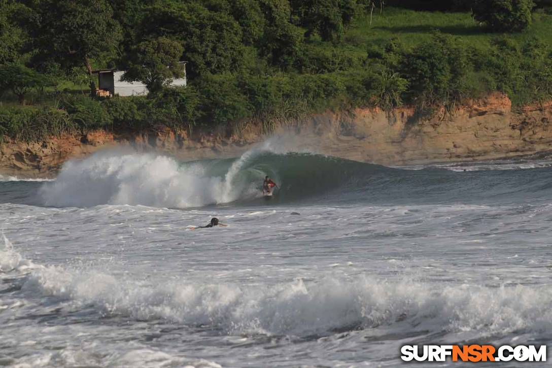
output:
<instances>
[{"instance_id":1,"label":"SURFNSR.COM logo in white and orange letters","mask_svg":"<svg viewBox=\"0 0 552 368\"><path fill-rule=\"evenodd\" d=\"M401 359L404 361L546 361L546 345L404 345Z\"/></svg>"}]
</instances>

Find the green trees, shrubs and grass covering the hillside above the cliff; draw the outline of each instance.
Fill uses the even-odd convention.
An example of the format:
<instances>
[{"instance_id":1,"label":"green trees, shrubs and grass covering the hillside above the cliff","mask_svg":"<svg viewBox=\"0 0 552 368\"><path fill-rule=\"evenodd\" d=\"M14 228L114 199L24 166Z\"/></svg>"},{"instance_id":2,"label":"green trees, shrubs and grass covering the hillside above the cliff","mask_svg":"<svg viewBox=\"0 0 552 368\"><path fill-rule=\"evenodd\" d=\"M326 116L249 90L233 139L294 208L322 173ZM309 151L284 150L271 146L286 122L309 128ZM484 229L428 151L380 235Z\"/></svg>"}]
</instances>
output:
<instances>
[{"instance_id":1,"label":"green trees, shrubs and grass covering the hillside above the cliff","mask_svg":"<svg viewBox=\"0 0 552 368\"><path fill-rule=\"evenodd\" d=\"M391 119L403 103L453 114L493 91L516 106L552 98L549 0L385 3L0 0L0 135L270 131L327 109L378 106ZM188 87L168 87L182 61ZM105 67L150 93L92 96L90 72Z\"/></svg>"}]
</instances>

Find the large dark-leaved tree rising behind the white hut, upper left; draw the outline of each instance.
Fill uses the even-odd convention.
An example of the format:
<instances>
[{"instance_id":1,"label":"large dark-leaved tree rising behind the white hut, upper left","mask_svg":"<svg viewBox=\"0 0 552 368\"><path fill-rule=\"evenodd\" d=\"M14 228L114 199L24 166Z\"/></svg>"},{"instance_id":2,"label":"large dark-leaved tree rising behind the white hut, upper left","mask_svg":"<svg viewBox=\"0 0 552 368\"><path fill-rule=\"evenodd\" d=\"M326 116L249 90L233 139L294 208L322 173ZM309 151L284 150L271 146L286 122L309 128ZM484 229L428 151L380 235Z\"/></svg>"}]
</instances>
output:
<instances>
[{"instance_id":1,"label":"large dark-leaved tree rising behind the white hut, upper left","mask_svg":"<svg viewBox=\"0 0 552 368\"><path fill-rule=\"evenodd\" d=\"M35 62L55 60L63 69L85 66L91 59L113 59L121 29L105 0L41 0L31 27L38 54Z\"/></svg>"}]
</instances>

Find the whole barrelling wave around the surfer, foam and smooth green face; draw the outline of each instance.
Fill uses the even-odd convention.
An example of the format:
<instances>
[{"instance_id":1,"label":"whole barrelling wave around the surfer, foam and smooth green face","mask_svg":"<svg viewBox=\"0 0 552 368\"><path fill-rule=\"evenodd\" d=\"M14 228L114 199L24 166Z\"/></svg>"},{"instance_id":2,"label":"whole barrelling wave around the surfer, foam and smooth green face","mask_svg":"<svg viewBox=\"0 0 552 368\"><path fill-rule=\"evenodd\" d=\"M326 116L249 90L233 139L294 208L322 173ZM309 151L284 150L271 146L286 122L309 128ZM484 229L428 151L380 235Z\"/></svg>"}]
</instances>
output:
<instances>
[{"instance_id":1,"label":"whole barrelling wave around the surfer, foam and smooth green face","mask_svg":"<svg viewBox=\"0 0 552 368\"><path fill-rule=\"evenodd\" d=\"M54 182L40 183L39 202L56 207L139 204L169 208L264 203L261 187L266 175L280 185L272 204L325 199L333 203L451 203L466 198L474 203L497 203L516 196L552 195L548 167L532 169L539 171L534 177L524 170L464 172L456 167L405 170L288 152L269 143L236 159L193 162L134 151L104 151L69 161Z\"/></svg>"}]
</instances>

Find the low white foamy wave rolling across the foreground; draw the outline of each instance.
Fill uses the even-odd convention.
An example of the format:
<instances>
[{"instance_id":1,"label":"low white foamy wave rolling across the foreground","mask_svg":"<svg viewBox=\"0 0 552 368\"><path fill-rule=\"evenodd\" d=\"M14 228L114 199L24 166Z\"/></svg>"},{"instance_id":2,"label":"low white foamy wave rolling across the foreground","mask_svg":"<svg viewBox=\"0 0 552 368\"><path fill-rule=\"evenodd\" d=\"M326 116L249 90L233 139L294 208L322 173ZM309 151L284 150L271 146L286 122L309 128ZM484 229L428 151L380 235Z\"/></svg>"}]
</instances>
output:
<instances>
[{"instance_id":1,"label":"low white foamy wave rolling across the foreground","mask_svg":"<svg viewBox=\"0 0 552 368\"><path fill-rule=\"evenodd\" d=\"M221 334L321 337L369 328L401 333L546 332L552 328L549 285L486 287L367 275L297 279L275 285L136 281L93 269L35 265L4 237L0 271L22 278L22 293L49 296L107 316L166 319ZM12 279L13 280L13 279Z\"/></svg>"}]
</instances>

